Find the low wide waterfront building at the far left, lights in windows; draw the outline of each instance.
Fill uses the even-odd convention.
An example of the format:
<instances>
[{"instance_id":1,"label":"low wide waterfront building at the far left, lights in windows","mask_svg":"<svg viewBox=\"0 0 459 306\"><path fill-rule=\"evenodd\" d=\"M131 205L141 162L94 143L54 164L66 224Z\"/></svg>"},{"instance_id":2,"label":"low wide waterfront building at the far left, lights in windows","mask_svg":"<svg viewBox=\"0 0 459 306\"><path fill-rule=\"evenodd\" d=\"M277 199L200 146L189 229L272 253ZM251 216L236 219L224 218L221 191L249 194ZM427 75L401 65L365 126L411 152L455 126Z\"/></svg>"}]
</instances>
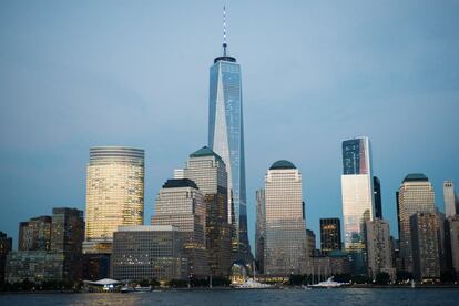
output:
<instances>
[{"instance_id":1,"label":"low wide waterfront building at the far left, lights in windows","mask_svg":"<svg viewBox=\"0 0 459 306\"><path fill-rule=\"evenodd\" d=\"M6 280L34 283L62 280L64 254L48 251L10 252L7 256Z\"/></svg>"}]
</instances>

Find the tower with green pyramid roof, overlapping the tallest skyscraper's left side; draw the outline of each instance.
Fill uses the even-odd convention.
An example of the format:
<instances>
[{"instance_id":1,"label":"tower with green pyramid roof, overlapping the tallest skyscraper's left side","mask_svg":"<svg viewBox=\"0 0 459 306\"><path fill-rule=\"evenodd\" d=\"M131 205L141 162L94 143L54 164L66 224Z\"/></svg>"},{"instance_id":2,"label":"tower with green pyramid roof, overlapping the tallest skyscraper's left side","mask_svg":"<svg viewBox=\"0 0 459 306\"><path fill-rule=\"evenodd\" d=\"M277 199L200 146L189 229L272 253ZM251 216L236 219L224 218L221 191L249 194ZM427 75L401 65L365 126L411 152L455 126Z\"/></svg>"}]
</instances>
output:
<instances>
[{"instance_id":1,"label":"tower with green pyramid roof, overlapping the tallest skyscraper's left side","mask_svg":"<svg viewBox=\"0 0 459 306\"><path fill-rule=\"evenodd\" d=\"M227 174L222 157L207 146L190 155L183 170L196 183L206 207L206 248L214 276L228 276L232 263L231 233L227 211Z\"/></svg>"}]
</instances>

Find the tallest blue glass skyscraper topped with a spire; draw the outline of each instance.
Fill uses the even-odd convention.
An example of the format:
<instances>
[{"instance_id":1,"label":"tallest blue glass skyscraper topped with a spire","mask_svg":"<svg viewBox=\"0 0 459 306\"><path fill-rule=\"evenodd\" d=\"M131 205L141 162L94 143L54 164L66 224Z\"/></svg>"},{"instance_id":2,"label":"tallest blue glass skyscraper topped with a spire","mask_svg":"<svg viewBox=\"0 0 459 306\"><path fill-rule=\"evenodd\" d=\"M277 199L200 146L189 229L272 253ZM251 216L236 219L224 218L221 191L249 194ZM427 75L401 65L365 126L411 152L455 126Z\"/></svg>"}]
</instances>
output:
<instances>
[{"instance_id":1,"label":"tallest blue glass skyscraper topped with a spire","mask_svg":"<svg viewBox=\"0 0 459 306\"><path fill-rule=\"evenodd\" d=\"M249 254L241 65L227 55L225 12L223 55L211 67L208 105L208 146L223 159L228 176L233 252Z\"/></svg>"}]
</instances>

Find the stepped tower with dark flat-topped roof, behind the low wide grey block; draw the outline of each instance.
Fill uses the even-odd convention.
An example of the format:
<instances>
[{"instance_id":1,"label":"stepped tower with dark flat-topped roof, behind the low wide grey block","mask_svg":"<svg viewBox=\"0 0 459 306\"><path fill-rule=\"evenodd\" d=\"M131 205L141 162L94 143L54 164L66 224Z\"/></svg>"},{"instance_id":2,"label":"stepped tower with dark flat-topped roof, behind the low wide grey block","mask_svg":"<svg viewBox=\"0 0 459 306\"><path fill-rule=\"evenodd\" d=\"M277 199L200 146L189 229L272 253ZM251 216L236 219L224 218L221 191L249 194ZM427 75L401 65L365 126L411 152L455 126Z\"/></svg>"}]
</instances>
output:
<instances>
[{"instance_id":1,"label":"stepped tower with dark flat-topped roof, behind the low wide grey block","mask_svg":"<svg viewBox=\"0 0 459 306\"><path fill-rule=\"evenodd\" d=\"M167 180L161 188L152 225L173 225L183 233L184 255L188 262L188 277L208 276L205 247L206 207L197 185L188 180Z\"/></svg>"}]
</instances>

